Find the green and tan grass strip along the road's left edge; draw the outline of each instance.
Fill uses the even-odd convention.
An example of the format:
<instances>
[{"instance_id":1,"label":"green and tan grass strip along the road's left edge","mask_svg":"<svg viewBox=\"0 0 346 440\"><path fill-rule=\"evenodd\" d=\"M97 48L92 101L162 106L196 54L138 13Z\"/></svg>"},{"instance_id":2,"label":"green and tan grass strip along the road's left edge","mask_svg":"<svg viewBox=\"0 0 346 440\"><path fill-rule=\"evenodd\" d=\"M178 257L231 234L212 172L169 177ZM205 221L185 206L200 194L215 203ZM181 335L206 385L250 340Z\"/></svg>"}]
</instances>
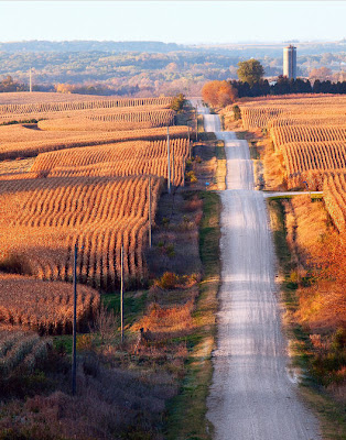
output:
<instances>
[{"instance_id":1,"label":"green and tan grass strip along the road's left edge","mask_svg":"<svg viewBox=\"0 0 346 440\"><path fill-rule=\"evenodd\" d=\"M206 398L212 382L212 350L214 348L217 293L220 280L219 212L220 198L202 191L203 219L199 227L199 253L204 277L194 312L195 344L186 364L186 376L180 394L169 408L169 440L212 439L213 428L206 420Z\"/></svg>"}]
</instances>

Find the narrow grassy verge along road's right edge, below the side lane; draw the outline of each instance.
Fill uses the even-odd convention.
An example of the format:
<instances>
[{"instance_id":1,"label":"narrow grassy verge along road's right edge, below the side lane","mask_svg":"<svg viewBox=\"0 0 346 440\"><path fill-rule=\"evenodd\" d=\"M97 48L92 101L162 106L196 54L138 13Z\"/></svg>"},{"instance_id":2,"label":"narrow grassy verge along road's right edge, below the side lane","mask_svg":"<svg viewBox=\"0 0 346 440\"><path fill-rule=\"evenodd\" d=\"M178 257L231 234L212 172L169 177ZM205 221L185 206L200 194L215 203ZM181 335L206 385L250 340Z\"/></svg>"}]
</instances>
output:
<instances>
[{"instance_id":1,"label":"narrow grassy verge along road's right edge, below the side lane","mask_svg":"<svg viewBox=\"0 0 346 440\"><path fill-rule=\"evenodd\" d=\"M324 439L345 440L345 411L309 374L312 362L309 334L293 319L293 315L298 309L298 285L290 279L290 272L294 270L294 267L286 243L284 208L281 199L269 199L268 208L280 268L281 300L285 309L284 328L290 340L292 363L293 366L300 369L304 373L300 392L305 402L307 402L316 413L321 421Z\"/></svg>"}]
</instances>

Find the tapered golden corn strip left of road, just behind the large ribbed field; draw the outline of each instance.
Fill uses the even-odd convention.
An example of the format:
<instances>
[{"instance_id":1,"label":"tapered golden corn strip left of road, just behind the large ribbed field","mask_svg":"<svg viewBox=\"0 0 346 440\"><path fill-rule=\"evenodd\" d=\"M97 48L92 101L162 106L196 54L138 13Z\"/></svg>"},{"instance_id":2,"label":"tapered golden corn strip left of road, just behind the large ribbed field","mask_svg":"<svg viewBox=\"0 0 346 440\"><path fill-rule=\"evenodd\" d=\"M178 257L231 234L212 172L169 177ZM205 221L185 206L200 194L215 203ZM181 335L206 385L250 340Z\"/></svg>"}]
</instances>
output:
<instances>
[{"instance_id":1,"label":"tapered golden corn strip left of road, just behind the large ribbed field","mask_svg":"<svg viewBox=\"0 0 346 440\"><path fill-rule=\"evenodd\" d=\"M171 176L174 185L183 185L188 142L186 139L172 140L170 148L172 157L174 154ZM43 153L35 160L31 172L48 177L152 174L167 178L166 156L166 141L126 142Z\"/></svg>"}]
</instances>

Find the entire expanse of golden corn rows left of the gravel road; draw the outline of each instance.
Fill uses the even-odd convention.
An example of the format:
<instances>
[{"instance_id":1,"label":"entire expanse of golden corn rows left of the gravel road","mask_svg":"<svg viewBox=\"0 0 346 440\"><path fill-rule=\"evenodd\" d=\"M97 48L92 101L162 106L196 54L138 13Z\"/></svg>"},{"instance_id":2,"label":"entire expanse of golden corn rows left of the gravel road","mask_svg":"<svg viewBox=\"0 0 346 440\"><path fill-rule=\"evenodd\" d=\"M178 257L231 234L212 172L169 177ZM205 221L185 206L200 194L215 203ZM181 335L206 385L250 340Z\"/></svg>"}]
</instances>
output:
<instances>
[{"instance_id":1,"label":"entire expanse of golden corn rows left of the gravel road","mask_svg":"<svg viewBox=\"0 0 346 440\"><path fill-rule=\"evenodd\" d=\"M77 280L83 285L78 286L79 329L99 307L93 287L119 286L121 249L126 286L145 284L149 211L154 222L167 177L172 98L76 96L74 100L26 94L22 103L18 97L13 96L15 103L0 97L0 123L40 121L0 127L0 160L37 157L30 172L30 165L15 167L13 161L0 175L0 271L7 273L0 275L0 323L40 334L68 333L72 286L67 282L73 279L75 245ZM170 127L170 138L171 178L183 185L187 127ZM30 338L22 336L26 342L20 348L13 337L2 355L0 333L3 374L15 367L18 351L21 365L28 359L34 369L36 354L39 359L46 345Z\"/></svg>"}]
</instances>

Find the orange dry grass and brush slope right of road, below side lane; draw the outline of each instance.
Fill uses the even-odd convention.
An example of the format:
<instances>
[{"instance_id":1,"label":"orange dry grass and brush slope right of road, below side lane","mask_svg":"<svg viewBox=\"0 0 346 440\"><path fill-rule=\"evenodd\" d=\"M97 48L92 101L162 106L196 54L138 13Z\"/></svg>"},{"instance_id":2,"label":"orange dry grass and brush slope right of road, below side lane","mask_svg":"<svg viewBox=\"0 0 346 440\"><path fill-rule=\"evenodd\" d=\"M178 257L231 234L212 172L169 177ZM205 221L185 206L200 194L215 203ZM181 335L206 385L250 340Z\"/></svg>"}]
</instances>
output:
<instances>
[{"instance_id":1,"label":"orange dry grass and brush slope right of road, below side lane","mask_svg":"<svg viewBox=\"0 0 346 440\"><path fill-rule=\"evenodd\" d=\"M288 243L298 256L298 279L313 271L314 283L298 290L298 320L311 331L337 329L346 324L344 293L344 242L328 227L322 201L299 196L285 202ZM305 270L304 270L305 268Z\"/></svg>"}]
</instances>

